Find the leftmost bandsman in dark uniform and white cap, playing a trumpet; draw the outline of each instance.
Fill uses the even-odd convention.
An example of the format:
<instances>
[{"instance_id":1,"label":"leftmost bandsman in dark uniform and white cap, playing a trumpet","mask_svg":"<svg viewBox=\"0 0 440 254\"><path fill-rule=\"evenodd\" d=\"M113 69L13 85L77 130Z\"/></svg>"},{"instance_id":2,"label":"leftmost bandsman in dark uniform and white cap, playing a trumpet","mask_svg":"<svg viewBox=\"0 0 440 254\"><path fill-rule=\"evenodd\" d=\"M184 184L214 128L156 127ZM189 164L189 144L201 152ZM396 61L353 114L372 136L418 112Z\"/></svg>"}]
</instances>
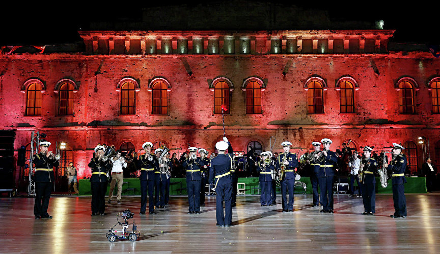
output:
<instances>
[{"instance_id":1,"label":"leftmost bandsman in dark uniform and white cap, playing a trumpet","mask_svg":"<svg viewBox=\"0 0 440 254\"><path fill-rule=\"evenodd\" d=\"M55 180L53 167L58 166L58 160L56 160L52 151L47 151L49 149L50 142L43 139L38 144L40 145L40 152L33 155L32 158L32 162L35 165L34 215L35 219L51 219L52 216L47 213L47 208L49 207L52 184Z\"/></svg>"}]
</instances>

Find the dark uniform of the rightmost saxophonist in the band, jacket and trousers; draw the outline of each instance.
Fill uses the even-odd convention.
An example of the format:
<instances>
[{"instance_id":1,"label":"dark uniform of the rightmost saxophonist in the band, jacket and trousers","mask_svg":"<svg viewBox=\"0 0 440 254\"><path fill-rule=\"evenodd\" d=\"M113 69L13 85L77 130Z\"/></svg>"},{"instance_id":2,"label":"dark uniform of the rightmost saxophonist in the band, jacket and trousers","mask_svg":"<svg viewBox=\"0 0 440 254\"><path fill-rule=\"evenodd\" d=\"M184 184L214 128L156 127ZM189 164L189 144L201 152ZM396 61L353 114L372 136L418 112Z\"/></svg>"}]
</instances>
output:
<instances>
[{"instance_id":1,"label":"dark uniform of the rightmost saxophonist in the band, jacket and trousers","mask_svg":"<svg viewBox=\"0 0 440 254\"><path fill-rule=\"evenodd\" d=\"M388 170L392 172L391 182L393 184L393 201L394 201L394 216L406 216L406 198L405 188L406 179L403 173L406 170L406 156L398 154L393 156L391 164L388 165Z\"/></svg>"}]
</instances>

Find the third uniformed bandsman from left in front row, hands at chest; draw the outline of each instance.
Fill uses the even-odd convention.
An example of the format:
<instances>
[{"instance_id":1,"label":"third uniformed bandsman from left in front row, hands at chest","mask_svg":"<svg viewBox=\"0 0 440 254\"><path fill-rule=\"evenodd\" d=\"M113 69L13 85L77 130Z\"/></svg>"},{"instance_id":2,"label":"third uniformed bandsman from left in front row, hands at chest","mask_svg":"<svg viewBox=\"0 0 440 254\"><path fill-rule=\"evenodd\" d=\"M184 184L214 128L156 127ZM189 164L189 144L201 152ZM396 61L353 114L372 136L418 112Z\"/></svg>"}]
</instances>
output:
<instances>
[{"instance_id":1,"label":"third uniformed bandsman from left in front row, hands at chest","mask_svg":"<svg viewBox=\"0 0 440 254\"><path fill-rule=\"evenodd\" d=\"M145 142L142 148L145 150L145 154L139 156L139 160L134 158L136 168L141 170L139 179L141 180L141 212L139 214L145 214L147 209L147 191L148 191L148 211L150 214L154 212L154 186L155 186L155 172L158 171L159 163L157 157L151 154L151 142Z\"/></svg>"}]
</instances>

